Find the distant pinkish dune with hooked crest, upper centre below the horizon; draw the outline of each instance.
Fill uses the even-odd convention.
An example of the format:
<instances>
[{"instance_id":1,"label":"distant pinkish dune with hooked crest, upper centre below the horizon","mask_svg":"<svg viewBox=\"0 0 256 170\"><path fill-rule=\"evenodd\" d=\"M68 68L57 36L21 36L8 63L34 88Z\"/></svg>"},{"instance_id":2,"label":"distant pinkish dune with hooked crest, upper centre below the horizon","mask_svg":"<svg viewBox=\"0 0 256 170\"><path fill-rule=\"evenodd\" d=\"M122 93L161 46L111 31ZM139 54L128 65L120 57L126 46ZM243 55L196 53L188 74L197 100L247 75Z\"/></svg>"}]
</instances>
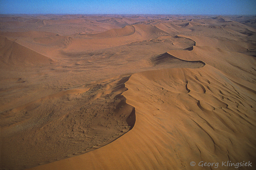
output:
<instances>
[{"instance_id":1,"label":"distant pinkish dune with hooked crest, upper centre below the horizon","mask_svg":"<svg viewBox=\"0 0 256 170\"><path fill-rule=\"evenodd\" d=\"M134 31L134 33L133 33ZM133 33L133 34L132 34ZM117 47L137 41L144 41L148 39L157 38L159 36L169 35L163 30L158 29L151 25L132 25L126 26L122 29L109 30L97 35L83 35L74 36L74 41L63 49L65 52L73 51L87 51L95 49L105 49L111 47ZM95 37L94 39L88 39L86 37ZM104 39L102 39L104 38Z\"/></svg>"}]
</instances>

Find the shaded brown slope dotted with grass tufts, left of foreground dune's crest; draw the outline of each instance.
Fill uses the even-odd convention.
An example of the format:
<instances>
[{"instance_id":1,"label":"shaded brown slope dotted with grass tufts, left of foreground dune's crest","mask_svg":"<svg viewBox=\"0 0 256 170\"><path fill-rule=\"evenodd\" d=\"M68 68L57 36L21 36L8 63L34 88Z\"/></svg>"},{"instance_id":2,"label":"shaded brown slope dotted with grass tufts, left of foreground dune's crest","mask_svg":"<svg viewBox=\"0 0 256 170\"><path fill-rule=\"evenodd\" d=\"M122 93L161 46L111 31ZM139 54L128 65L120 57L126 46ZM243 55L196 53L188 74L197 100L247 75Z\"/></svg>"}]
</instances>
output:
<instances>
[{"instance_id":1,"label":"shaded brown slope dotted with grass tufts, left of foreground dune's crest","mask_svg":"<svg viewBox=\"0 0 256 170\"><path fill-rule=\"evenodd\" d=\"M131 130L135 108L122 95L128 79L85 84L1 112L1 169L80 155Z\"/></svg>"}]
</instances>

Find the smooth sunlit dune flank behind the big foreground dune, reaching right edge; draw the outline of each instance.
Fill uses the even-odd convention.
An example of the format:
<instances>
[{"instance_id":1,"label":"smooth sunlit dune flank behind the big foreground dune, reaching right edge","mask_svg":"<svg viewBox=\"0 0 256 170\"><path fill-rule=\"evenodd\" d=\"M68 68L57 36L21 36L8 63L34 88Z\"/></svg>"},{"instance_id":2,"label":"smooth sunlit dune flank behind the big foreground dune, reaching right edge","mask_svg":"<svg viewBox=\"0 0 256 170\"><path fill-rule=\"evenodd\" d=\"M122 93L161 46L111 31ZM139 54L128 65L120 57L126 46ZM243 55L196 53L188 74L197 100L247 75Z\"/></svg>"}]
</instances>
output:
<instances>
[{"instance_id":1,"label":"smooth sunlit dune flank behind the big foreground dune, reaching right edge","mask_svg":"<svg viewBox=\"0 0 256 170\"><path fill-rule=\"evenodd\" d=\"M206 64L221 70L229 76L239 77L242 80L248 81L246 84L248 84L252 89L255 89L253 88L253 84L256 82L256 74L253 69L255 68L254 58L250 56L239 52L230 52L209 46L193 46L193 50L191 51L171 50L168 51L168 54L184 60L202 60ZM236 58L233 58L232 56L236 56Z\"/></svg>"}]
</instances>

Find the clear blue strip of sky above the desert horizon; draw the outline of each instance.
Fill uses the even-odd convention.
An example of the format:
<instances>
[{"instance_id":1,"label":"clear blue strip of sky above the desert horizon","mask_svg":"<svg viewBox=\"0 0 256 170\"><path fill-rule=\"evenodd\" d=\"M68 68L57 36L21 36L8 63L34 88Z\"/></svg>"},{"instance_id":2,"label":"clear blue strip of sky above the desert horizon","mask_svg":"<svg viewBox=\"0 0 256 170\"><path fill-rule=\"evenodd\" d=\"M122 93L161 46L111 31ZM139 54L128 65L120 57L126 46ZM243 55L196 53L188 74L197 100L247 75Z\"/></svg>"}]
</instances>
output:
<instances>
[{"instance_id":1,"label":"clear blue strip of sky above the desert horizon","mask_svg":"<svg viewBox=\"0 0 256 170\"><path fill-rule=\"evenodd\" d=\"M255 0L0 0L1 14L256 14Z\"/></svg>"}]
</instances>

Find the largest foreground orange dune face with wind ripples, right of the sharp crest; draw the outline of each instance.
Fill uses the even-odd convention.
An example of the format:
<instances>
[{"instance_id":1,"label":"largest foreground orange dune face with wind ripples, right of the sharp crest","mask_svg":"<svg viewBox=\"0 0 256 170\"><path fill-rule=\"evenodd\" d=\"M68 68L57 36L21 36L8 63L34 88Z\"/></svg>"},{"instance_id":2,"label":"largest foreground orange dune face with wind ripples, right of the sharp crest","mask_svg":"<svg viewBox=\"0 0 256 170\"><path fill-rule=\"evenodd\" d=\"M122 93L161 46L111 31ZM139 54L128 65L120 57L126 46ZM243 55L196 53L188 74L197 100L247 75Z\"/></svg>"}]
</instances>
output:
<instances>
[{"instance_id":1,"label":"largest foreground orange dune face with wind ripples, right of the sharp crest","mask_svg":"<svg viewBox=\"0 0 256 170\"><path fill-rule=\"evenodd\" d=\"M225 76L208 76L218 72L207 65L195 71L166 69L132 75L125 83L129 90L123 93L136 111L132 131L98 150L35 169L198 169L189 163L254 162L255 103L250 107L253 100L234 91L241 87L231 80L229 86L222 84Z\"/></svg>"}]
</instances>

